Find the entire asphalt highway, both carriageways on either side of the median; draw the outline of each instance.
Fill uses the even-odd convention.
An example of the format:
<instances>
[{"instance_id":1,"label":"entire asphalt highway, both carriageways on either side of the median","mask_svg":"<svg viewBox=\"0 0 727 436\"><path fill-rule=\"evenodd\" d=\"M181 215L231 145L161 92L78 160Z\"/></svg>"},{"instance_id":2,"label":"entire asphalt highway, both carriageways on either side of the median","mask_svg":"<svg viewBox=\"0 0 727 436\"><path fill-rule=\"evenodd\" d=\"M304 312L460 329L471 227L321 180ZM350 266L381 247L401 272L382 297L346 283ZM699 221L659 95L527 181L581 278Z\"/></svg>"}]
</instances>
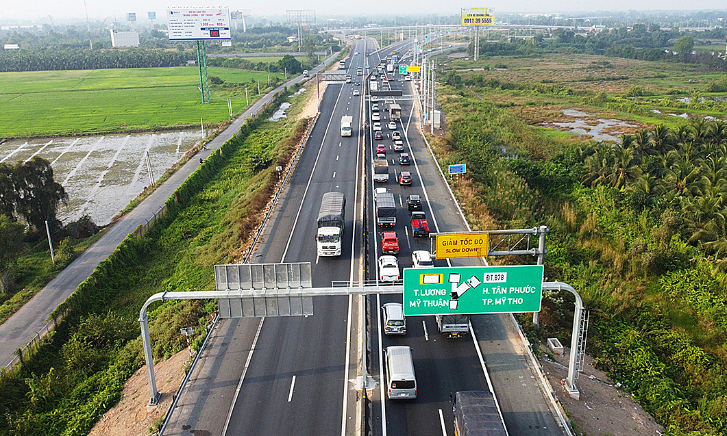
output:
<instances>
[{"instance_id":1,"label":"entire asphalt highway, both carriageways on either side of the median","mask_svg":"<svg viewBox=\"0 0 727 436\"><path fill-rule=\"evenodd\" d=\"M366 99L367 77L379 59L392 49L407 52L404 41L377 51L367 39L354 40L346 70L353 83L329 84L322 95L321 114L303 151L297 169L265 231L264 241L252 262L310 262L313 286L332 281L375 280L381 250L374 217L374 182L371 165L374 148L387 146L390 181L385 185L397 199L400 267L411 267L411 251L429 250L428 238L412 238L406 230L406 195L422 195L430 230L466 230L446 183L417 130L419 113L412 100L397 100L406 152L411 166L398 164L392 148L388 114L381 110L384 140L373 141L371 105ZM367 47L368 46L368 47ZM358 55L353 53L358 52ZM366 53L371 55L366 59ZM356 68L364 76L356 76ZM390 79L392 89L414 93L413 82ZM357 86L356 81L361 81ZM379 81L380 83L380 81ZM353 90L359 89L360 96ZM379 105L383 105L380 102ZM341 116L354 119L353 135L341 137ZM398 185L396 177L411 171L413 184ZM380 185L380 184L379 184ZM345 193L346 230L340 257L318 257L314 234L321 197L336 190ZM364 219L364 213L368 217ZM364 223L367 223L364 228ZM365 235L365 238L364 238ZM366 247L368 256L366 256ZM478 265L476 259L451 265ZM443 260L437 266L446 266ZM319 296L313 299L313 316L301 318L251 318L222 320L196 368L193 381L182 394L164 435L356 435L361 424L357 411L364 408L357 390L359 353L358 297ZM366 432L373 435L453 435L449 393L462 389L489 389L483 371L486 363L491 384L499 397L510 435L563 435L542 395L524 355L509 315L478 315L472 336L446 339L437 332L433 317L408 317L407 334L390 337L382 331L379 308L401 302L401 295L365 298L367 347L365 362L371 413ZM411 401L382 400L382 350L390 345L413 350L418 397ZM198 432L198 433L197 433ZM204 433L206 432L206 433Z\"/></svg>"}]
</instances>

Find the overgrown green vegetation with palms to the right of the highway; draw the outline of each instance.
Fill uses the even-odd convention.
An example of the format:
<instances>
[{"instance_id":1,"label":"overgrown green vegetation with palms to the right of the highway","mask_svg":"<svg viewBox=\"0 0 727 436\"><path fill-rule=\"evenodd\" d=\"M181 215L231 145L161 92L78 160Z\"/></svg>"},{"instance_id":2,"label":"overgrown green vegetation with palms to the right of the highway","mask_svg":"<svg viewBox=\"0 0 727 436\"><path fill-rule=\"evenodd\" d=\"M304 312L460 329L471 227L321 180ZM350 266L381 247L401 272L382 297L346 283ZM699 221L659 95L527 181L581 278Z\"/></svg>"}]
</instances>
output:
<instances>
[{"instance_id":1,"label":"overgrown green vegetation with palms to the right of the highway","mask_svg":"<svg viewBox=\"0 0 727 436\"><path fill-rule=\"evenodd\" d=\"M453 189L473 230L547 225L545 278L570 283L582 295L590 310L588 352L601 368L671 435L725 434L727 263L720 244L727 232L727 127L677 120L680 126L652 126L618 146L563 140L529 122L547 121L549 110L558 116L553 105L598 110L587 99L614 81L578 82L583 89L569 91L560 82L574 83L569 74L512 68L532 60L498 62L507 62L507 70L460 72L471 91L460 85L438 92L448 130L431 142L442 165L468 164L467 179ZM664 66L638 63L652 72ZM552 88L529 81L546 75ZM493 86L493 76L518 88ZM618 89L647 78L624 80ZM686 82L668 74L662 80ZM607 94L606 102L613 98ZM567 340L572 302L568 293L550 294L540 328L529 325L529 316L521 322L541 339Z\"/></svg>"}]
</instances>

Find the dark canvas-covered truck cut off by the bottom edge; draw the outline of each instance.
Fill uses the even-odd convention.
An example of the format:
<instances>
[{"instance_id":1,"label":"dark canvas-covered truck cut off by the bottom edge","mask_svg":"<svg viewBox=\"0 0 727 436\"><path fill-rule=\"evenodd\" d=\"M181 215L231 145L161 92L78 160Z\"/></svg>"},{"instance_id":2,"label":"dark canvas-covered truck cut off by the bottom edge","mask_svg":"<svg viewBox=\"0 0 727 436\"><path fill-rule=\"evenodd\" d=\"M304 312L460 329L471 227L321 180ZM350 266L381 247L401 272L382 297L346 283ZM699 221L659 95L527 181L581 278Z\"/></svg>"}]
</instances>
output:
<instances>
[{"instance_id":1,"label":"dark canvas-covered truck cut off by the bottom edge","mask_svg":"<svg viewBox=\"0 0 727 436\"><path fill-rule=\"evenodd\" d=\"M492 392L455 392L452 411L454 436L508 436Z\"/></svg>"}]
</instances>

